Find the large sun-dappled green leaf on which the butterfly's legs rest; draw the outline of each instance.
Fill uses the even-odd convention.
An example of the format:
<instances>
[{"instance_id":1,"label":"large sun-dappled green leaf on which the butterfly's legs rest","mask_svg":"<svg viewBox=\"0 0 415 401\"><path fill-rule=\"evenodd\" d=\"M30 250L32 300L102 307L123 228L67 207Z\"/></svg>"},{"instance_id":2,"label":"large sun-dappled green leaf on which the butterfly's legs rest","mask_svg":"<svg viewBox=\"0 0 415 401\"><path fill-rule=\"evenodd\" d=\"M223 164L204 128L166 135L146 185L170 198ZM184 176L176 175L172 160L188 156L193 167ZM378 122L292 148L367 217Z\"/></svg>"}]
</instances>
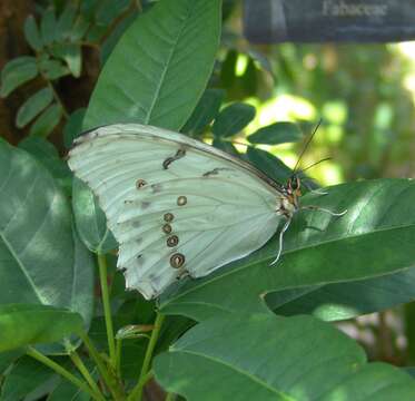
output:
<instances>
[{"instance_id":1,"label":"large sun-dappled green leaf on which the butterfly's legs rest","mask_svg":"<svg viewBox=\"0 0 415 401\"><path fill-rule=\"evenodd\" d=\"M196 320L217 312L260 311L260 296L268 292L374 278L415 266L414 182L379 179L326 189L328 195L309 194L303 203L335 212L347 208L346 215L297 214L276 265L269 266L278 247L274 237L206 278L174 286L161 300L161 311Z\"/></svg>"}]
</instances>

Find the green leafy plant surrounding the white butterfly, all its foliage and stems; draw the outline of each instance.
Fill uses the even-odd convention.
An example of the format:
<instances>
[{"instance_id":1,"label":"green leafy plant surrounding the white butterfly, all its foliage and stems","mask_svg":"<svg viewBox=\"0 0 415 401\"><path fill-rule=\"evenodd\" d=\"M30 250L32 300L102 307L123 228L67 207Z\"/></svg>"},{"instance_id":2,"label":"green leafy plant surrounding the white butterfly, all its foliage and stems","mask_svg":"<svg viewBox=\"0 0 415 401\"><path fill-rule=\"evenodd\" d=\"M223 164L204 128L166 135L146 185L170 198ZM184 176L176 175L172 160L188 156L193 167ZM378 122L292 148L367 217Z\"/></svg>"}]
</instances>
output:
<instances>
[{"instance_id":1,"label":"green leafy plant surrounding the white butterfly, all its foliage and stems","mask_svg":"<svg viewBox=\"0 0 415 401\"><path fill-rule=\"evenodd\" d=\"M81 2L77 11L67 6L57 23L82 19L82 7L91 3ZM211 75L220 10L219 0L161 0L128 23L86 113L77 110L67 121L65 144L102 124L150 124L209 139L284 182L289 168L260 145L297 141L302 134L281 121L248 133L247 140L239 135L255 108L240 101L221 106L226 92L218 87L234 56L227 52ZM0 141L2 398L134 401L155 379L167 400L413 400L407 372L367 362L362 348L328 322L413 299L414 183L357 182L313 199L348 213L335 223L318 213L299 215L278 266L269 266L276 253L270 241L206 278L178 283L156 303L126 293L115 270L117 244L93 195L39 137L69 115L52 86L63 71L79 74L83 46L72 40L76 22L65 25L62 37L72 38L65 45L52 39L52 16L49 9L42 13L41 42L34 20L28 20L36 57L13 60L2 71L2 95L39 71L46 77L45 92L26 106L31 118L18 113L23 126L21 120L29 124L46 110L30 136L17 148ZM51 50L57 43L66 50ZM257 68L253 62L249 75ZM55 67L43 63L60 72L46 74ZM236 82L236 95L227 99L237 99L240 87ZM379 296L386 284L387 296Z\"/></svg>"}]
</instances>

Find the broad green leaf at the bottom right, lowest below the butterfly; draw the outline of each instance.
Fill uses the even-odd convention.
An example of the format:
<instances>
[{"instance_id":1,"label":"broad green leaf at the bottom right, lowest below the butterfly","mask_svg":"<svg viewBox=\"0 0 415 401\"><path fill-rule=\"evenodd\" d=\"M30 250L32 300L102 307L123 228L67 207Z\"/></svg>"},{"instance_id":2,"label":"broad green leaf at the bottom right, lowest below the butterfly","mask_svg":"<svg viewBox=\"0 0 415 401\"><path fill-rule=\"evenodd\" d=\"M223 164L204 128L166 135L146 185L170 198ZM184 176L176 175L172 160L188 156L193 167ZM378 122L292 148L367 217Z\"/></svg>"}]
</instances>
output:
<instances>
[{"instance_id":1,"label":"broad green leaf at the bottom right, lowest below the butterfly","mask_svg":"<svg viewBox=\"0 0 415 401\"><path fill-rule=\"evenodd\" d=\"M415 393L408 374L367 363L353 340L310 316L213 319L157 356L154 369L167 391L188 401L411 401Z\"/></svg>"}]
</instances>

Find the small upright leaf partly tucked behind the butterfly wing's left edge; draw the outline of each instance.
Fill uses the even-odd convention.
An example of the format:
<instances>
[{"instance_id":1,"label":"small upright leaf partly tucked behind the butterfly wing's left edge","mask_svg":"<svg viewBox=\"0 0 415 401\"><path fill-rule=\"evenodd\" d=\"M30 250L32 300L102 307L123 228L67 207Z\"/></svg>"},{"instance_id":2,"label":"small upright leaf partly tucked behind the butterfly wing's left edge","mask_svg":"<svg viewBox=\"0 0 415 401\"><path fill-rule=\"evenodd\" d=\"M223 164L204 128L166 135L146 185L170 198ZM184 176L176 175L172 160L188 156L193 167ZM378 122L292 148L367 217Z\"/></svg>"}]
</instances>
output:
<instances>
[{"instance_id":1,"label":"small upright leaf partly tucked behind the butterfly wing's left edge","mask_svg":"<svg viewBox=\"0 0 415 401\"><path fill-rule=\"evenodd\" d=\"M83 244L92 252L106 253L118 247L107 218L88 185L73 178L72 207L78 233Z\"/></svg>"}]
</instances>

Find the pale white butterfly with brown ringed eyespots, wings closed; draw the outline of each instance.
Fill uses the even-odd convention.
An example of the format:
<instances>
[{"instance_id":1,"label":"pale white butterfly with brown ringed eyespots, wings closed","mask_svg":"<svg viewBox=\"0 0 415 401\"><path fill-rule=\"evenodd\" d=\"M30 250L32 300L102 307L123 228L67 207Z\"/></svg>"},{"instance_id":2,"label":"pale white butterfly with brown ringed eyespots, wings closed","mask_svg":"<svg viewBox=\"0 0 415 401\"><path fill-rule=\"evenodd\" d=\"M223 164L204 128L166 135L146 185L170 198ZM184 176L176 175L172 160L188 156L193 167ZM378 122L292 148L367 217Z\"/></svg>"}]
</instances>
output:
<instances>
[{"instance_id":1,"label":"pale white butterfly with brown ringed eyespots, wings closed","mask_svg":"<svg viewBox=\"0 0 415 401\"><path fill-rule=\"evenodd\" d=\"M284 221L277 262L300 208L297 177L281 186L239 158L151 126L88 131L76 139L68 163L107 216L127 288L146 299L177 278L201 277L250 254Z\"/></svg>"}]
</instances>

